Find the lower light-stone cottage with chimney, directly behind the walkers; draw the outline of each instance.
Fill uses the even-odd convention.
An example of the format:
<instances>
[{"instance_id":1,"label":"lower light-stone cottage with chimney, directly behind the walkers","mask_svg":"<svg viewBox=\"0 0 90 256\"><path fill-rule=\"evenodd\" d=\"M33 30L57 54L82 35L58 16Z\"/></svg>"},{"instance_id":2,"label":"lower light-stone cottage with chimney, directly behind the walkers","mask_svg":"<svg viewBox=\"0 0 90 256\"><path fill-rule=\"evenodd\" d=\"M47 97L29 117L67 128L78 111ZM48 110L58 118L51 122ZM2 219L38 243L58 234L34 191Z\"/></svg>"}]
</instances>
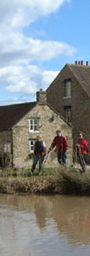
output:
<instances>
[{"instance_id":1,"label":"lower light-stone cottage with chimney, directly behind the walkers","mask_svg":"<svg viewBox=\"0 0 90 256\"><path fill-rule=\"evenodd\" d=\"M0 107L0 119L0 154L8 155L14 168L31 168L34 141L38 133L49 149L57 129L67 136L70 145L67 163L72 164L72 126L47 104L46 92L37 92L36 102ZM56 151L53 150L45 166L58 165Z\"/></svg>"}]
</instances>

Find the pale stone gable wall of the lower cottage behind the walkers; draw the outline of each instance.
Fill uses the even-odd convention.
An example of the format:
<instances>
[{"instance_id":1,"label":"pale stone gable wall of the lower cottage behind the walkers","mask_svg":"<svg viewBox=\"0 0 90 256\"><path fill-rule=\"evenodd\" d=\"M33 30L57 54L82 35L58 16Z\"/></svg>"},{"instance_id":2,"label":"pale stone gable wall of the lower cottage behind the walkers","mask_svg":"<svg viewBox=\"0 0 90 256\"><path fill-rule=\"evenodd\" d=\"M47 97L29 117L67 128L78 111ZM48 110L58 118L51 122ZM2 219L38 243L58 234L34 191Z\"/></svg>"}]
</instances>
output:
<instances>
[{"instance_id":1,"label":"pale stone gable wall of the lower cottage behind the walkers","mask_svg":"<svg viewBox=\"0 0 90 256\"><path fill-rule=\"evenodd\" d=\"M55 120L52 121L54 114ZM67 136L70 147L67 152L67 164L72 164L73 140L72 128L59 115L57 115L48 105L37 104L23 119L13 127L13 164L16 168L31 168L32 159L29 150L29 140L35 139L38 132L29 132L29 119L39 118L39 134L47 146L47 150L56 136L56 130L62 130L64 136ZM59 166L56 159L56 151L53 149L45 162L45 167Z\"/></svg>"}]
</instances>

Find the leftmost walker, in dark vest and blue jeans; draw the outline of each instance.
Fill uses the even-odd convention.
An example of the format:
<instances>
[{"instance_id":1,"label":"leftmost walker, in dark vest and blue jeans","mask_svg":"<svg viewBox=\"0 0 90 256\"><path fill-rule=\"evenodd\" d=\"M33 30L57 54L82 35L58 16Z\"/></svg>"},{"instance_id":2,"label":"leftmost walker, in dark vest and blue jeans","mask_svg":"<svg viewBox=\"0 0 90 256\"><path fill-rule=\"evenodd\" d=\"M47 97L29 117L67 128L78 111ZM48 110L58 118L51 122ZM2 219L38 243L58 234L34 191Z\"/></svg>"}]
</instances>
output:
<instances>
[{"instance_id":1,"label":"leftmost walker, in dark vest and blue jeans","mask_svg":"<svg viewBox=\"0 0 90 256\"><path fill-rule=\"evenodd\" d=\"M34 173L34 169L39 162L39 175L41 175L41 166L43 164L44 158L46 155L46 145L42 141L41 135L37 136L37 141L34 144L34 163L32 165L31 171Z\"/></svg>"}]
</instances>

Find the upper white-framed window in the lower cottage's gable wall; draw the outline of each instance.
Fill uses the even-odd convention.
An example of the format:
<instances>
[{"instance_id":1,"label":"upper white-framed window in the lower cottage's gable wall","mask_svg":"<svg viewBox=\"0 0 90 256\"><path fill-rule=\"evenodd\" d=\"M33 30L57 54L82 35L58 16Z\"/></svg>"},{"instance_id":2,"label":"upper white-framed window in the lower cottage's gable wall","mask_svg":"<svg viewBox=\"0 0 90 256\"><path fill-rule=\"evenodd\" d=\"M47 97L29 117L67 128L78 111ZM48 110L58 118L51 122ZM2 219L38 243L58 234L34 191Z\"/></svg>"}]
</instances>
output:
<instances>
[{"instance_id":1,"label":"upper white-framed window in the lower cottage's gable wall","mask_svg":"<svg viewBox=\"0 0 90 256\"><path fill-rule=\"evenodd\" d=\"M29 120L29 130L30 132L37 132L39 130L39 119Z\"/></svg>"}]
</instances>

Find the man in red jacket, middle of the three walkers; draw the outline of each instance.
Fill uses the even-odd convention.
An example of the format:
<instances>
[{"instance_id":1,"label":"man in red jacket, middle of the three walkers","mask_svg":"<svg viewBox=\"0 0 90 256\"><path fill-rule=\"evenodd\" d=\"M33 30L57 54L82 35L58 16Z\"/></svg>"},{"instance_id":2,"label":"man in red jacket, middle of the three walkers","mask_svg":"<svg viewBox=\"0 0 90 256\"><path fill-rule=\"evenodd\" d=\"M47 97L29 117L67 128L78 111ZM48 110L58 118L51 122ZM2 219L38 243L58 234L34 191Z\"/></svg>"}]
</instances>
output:
<instances>
[{"instance_id":1,"label":"man in red jacket, middle of the three walkers","mask_svg":"<svg viewBox=\"0 0 90 256\"><path fill-rule=\"evenodd\" d=\"M56 146L57 159L59 164L65 165L67 163L67 149L69 147L67 137L61 134L61 130L56 130L56 137L54 137L48 153Z\"/></svg>"}]
</instances>

